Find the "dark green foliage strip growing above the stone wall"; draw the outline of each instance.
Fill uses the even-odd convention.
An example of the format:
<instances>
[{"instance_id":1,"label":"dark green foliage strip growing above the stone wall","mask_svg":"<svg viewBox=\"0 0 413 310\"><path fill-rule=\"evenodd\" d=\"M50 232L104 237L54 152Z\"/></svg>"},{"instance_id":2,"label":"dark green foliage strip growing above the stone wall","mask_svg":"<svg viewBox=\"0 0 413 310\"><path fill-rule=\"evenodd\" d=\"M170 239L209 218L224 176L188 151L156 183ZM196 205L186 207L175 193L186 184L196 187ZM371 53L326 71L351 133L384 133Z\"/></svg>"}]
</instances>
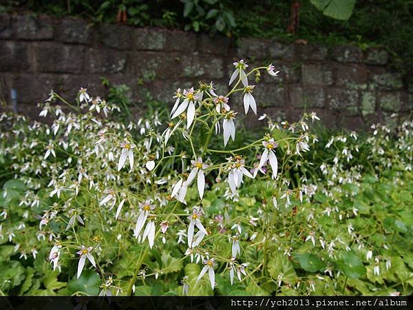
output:
<instances>
[{"instance_id":1,"label":"dark green foliage strip growing above the stone wall","mask_svg":"<svg viewBox=\"0 0 413 310\"><path fill-rule=\"evenodd\" d=\"M301 39L331 44L351 42L363 49L381 45L393 54L392 65L405 70L406 76L410 75L413 68L412 1L342 0L340 6L336 6L336 2L9 0L0 5L0 12L30 10L59 17L74 15L96 22L179 28L211 35L218 32L229 37Z\"/></svg>"}]
</instances>

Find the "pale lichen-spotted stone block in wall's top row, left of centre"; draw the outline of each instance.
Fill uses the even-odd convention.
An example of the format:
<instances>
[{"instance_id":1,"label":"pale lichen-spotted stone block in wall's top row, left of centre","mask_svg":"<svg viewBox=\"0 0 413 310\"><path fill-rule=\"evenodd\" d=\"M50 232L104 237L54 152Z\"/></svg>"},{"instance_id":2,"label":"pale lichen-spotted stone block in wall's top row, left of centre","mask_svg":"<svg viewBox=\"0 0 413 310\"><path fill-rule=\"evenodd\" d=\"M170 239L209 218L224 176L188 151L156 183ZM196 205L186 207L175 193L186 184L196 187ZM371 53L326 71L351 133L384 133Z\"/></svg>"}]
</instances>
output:
<instances>
[{"instance_id":1,"label":"pale lichen-spotted stone block in wall's top row, left of centre","mask_svg":"<svg viewBox=\"0 0 413 310\"><path fill-rule=\"evenodd\" d=\"M132 31L132 41L136 50L162 50L167 38L164 31L139 28Z\"/></svg>"}]
</instances>

